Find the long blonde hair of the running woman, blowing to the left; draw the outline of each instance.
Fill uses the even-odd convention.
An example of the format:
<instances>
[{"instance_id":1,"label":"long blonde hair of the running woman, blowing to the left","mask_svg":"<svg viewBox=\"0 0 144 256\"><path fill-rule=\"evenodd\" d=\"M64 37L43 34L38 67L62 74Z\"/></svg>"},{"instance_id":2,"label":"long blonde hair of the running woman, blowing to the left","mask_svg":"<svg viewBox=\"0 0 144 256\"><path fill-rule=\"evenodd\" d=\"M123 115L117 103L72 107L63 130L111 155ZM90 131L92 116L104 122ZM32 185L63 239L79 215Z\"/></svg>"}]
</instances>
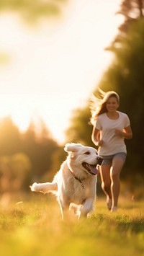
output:
<instances>
[{"instance_id":1,"label":"long blonde hair of the running woman, blowing to the left","mask_svg":"<svg viewBox=\"0 0 144 256\"><path fill-rule=\"evenodd\" d=\"M92 125L94 125L99 115L102 115L104 112L107 112L106 103L110 97L115 97L117 99L117 102L120 103L120 97L117 94L117 92L114 92L114 91L103 92L102 89L100 88L98 88L98 90L99 90L100 96L96 97L93 94L90 101L90 110L91 110L90 123Z\"/></svg>"}]
</instances>

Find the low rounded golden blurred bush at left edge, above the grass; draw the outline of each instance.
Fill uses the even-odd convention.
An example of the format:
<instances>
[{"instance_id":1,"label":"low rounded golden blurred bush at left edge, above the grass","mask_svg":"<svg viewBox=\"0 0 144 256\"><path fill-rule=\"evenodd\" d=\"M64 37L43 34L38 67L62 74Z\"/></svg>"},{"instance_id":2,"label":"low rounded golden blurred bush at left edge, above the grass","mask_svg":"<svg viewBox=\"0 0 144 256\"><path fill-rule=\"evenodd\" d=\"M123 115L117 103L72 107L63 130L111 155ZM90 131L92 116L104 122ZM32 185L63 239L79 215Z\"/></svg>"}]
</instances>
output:
<instances>
[{"instance_id":1,"label":"low rounded golden blurred bush at left edge, above the grass","mask_svg":"<svg viewBox=\"0 0 144 256\"><path fill-rule=\"evenodd\" d=\"M31 182L30 159L23 153L0 157L0 192L17 193L27 190Z\"/></svg>"}]
</instances>

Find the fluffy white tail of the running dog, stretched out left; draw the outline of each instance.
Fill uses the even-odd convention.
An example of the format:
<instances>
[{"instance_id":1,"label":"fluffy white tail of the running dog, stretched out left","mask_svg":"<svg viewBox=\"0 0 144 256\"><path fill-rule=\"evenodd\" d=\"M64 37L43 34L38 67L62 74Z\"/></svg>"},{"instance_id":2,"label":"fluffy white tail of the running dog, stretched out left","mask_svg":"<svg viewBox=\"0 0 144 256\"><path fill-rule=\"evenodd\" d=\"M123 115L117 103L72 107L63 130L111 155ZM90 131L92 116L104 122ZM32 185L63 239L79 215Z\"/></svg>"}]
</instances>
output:
<instances>
[{"instance_id":1,"label":"fluffy white tail of the running dog, stretched out left","mask_svg":"<svg viewBox=\"0 0 144 256\"><path fill-rule=\"evenodd\" d=\"M30 189L35 192L41 192L41 193L57 193L58 185L56 182L46 182L46 183L33 183L32 186L30 186Z\"/></svg>"}]
</instances>

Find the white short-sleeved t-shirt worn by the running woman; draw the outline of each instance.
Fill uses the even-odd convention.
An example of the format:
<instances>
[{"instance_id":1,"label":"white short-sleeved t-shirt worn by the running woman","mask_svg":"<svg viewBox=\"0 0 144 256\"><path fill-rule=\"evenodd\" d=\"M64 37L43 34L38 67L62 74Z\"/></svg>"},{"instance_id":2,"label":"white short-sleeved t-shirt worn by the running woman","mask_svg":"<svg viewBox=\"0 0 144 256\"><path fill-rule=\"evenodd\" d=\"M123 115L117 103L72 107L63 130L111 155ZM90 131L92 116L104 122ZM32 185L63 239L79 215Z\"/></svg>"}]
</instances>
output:
<instances>
[{"instance_id":1,"label":"white short-sleeved t-shirt worn by the running woman","mask_svg":"<svg viewBox=\"0 0 144 256\"><path fill-rule=\"evenodd\" d=\"M130 119L125 113L117 111L119 118L116 120L109 119L107 114L99 115L96 119L96 129L100 131L100 140L104 141L102 146L99 146L99 154L109 156L120 152L127 153L125 141L123 137L115 135L115 129L123 131L124 128L130 125Z\"/></svg>"}]
</instances>

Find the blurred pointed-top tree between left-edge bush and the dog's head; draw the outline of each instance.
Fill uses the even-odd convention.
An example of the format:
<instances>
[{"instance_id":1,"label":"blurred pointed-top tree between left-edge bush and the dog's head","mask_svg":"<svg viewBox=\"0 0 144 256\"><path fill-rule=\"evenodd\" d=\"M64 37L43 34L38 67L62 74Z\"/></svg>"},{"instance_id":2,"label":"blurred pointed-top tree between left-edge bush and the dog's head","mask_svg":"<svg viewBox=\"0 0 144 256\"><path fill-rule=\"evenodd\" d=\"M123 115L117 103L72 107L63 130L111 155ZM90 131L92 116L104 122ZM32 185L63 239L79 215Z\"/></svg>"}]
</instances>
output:
<instances>
[{"instance_id":1,"label":"blurred pointed-top tree between left-edge bush and the dog's head","mask_svg":"<svg viewBox=\"0 0 144 256\"><path fill-rule=\"evenodd\" d=\"M52 168L52 156L58 149L58 144L51 137L45 123L41 119L39 121L38 131L35 124L30 123L23 136L23 151L30 157L35 179Z\"/></svg>"}]
</instances>

